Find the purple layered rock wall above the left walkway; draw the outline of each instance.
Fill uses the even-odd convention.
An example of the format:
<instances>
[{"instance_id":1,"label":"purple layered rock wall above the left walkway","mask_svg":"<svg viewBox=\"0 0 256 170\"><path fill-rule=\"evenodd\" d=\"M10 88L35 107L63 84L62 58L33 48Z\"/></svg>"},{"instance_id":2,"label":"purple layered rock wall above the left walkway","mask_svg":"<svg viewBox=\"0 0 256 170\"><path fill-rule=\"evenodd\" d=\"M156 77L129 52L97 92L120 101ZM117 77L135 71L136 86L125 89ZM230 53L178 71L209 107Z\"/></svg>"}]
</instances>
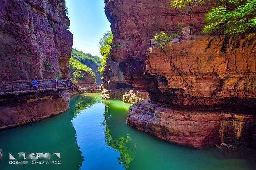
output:
<instances>
[{"instance_id":1,"label":"purple layered rock wall above the left walkway","mask_svg":"<svg viewBox=\"0 0 256 170\"><path fill-rule=\"evenodd\" d=\"M68 75L73 38L60 0L2 0L0 83ZM44 61L52 64L45 66ZM52 71L48 74L48 70Z\"/></svg>"}]
</instances>

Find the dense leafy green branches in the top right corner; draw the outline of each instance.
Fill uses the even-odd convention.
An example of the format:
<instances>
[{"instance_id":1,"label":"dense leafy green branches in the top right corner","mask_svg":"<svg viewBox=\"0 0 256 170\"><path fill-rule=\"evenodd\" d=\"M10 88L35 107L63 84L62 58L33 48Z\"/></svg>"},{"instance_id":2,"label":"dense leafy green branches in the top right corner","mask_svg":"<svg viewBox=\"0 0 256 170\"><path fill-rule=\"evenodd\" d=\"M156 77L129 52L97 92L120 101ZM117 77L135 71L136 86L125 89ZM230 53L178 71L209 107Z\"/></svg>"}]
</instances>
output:
<instances>
[{"instance_id":1,"label":"dense leafy green branches in the top right corner","mask_svg":"<svg viewBox=\"0 0 256 170\"><path fill-rule=\"evenodd\" d=\"M221 34L239 34L256 30L255 0L221 0L220 6L213 8L205 15L208 25L203 32L210 34L218 31Z\"/></svg>"}]
</instances>

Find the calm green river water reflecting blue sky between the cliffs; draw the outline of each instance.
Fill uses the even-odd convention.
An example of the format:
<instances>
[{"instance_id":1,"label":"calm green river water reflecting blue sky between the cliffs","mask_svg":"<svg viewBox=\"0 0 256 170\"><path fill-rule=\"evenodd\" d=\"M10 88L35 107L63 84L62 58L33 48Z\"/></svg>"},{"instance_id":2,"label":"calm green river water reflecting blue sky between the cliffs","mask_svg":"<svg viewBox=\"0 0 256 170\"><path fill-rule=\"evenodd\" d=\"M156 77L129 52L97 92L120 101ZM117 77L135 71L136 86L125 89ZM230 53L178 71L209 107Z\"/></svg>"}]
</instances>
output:
<instances>
[{"instance_id":1,"label":"calm green river water reflecting blue sky between the cliffs","mask_svg":"<svg viewBox=\"0 0 256 170\"><path fill-rule=\"evenodd\" d=\"M194 149L158 140L125 124L130 104L102 100L100 93L75 96L70 111L0 132L0 169L255 169L255 155ZM61 164L9 164L9 153L60 152Z\"/></svg>"}]
</instances>

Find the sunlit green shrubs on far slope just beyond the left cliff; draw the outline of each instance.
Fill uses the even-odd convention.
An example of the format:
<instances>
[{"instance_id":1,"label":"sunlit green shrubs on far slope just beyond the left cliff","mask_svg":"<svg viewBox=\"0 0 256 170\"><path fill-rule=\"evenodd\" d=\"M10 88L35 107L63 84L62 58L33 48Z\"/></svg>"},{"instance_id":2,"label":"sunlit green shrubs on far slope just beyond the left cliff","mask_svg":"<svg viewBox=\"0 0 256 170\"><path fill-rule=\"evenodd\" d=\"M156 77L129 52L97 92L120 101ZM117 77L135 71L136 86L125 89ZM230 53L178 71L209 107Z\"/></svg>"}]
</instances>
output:
<instances>
[{"instance_id":1,"label":"sunlit green shrubs on far slope just beyond the left cliff","mask_svg":"<svg viewBox=\"0 0 256 170\"><path fill-rule=\"evenodd\" d=\"M71 78L77 83L79 80L84 80L84 72L90 74L94 80L96 79L94 72L88 66L82 64L79 60L71 57L69 60L69 70Z\"/></svg>"}]
</instances>

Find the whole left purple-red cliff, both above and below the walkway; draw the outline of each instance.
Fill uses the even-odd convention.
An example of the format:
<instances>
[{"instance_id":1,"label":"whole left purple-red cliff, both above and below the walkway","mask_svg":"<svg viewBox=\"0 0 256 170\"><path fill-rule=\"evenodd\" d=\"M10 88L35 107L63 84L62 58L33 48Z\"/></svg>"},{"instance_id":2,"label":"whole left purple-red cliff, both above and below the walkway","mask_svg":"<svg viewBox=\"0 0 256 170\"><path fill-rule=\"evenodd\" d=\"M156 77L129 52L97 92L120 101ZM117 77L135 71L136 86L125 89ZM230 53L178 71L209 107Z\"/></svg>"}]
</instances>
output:
<instances>
[{"instance_id":1,"label":"whole left purple-red cliff, both above and below the walkway","mask_svg":"<svg viewBox=\"0 0 256 170\"><path fill-rule=\"evenodd\" d=\"M0 84L66 78L73 37L64 0L2 0ZM22 85L22 84L19 84ZM1 89L1 91L3 91ZM65 91L6 95L0 99L0 129L19 126L69 109Z\"/></svg>"}]
</instances>

